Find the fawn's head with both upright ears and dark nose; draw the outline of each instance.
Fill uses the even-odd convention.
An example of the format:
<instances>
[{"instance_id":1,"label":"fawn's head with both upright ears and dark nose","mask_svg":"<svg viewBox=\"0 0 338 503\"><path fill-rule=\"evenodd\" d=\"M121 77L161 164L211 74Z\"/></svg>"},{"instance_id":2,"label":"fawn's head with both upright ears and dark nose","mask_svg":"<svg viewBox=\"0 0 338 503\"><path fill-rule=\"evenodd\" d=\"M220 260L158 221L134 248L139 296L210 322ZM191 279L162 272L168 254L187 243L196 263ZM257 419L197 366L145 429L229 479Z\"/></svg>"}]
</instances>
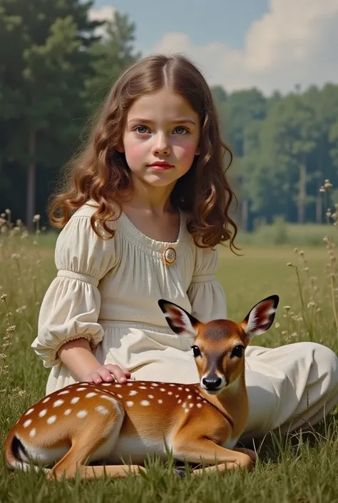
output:
<instances>
[{"instance_id":1,"label":"fawn's head with both upright ears and dark nose","mask_svg":"<svg viewBox=\"0 0 338 503\"><path fill-rule=\"evenodd\" d=\"M244 320L212 320L203 323L178 305L159 300L168 325L178 335L193 338L193 355L200 375L200 386L217 395L237 382L244 372L245 348L255 335L272 325L279 298L267 297L257 303Z\"/></svg>"}]
</instances>

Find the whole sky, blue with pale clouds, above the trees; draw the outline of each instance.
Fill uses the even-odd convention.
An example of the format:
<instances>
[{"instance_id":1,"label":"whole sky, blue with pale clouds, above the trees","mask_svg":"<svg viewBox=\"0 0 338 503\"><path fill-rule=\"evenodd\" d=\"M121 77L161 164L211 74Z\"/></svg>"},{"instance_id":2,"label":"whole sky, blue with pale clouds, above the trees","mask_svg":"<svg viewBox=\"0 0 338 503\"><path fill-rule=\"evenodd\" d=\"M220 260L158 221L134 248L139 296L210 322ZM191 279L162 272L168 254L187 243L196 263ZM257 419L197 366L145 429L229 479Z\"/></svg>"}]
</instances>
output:
<instances>
[{"instance_id":1,"label":"whole sky, blue with pale clouds, above the trees","mask_svg":"<svg viewBox=\"0 0 338 503\"><path fill-rule=\"evenodd\" d=\"M185 54L229 92L338 83L338 0L96 0L91 17L116 10L143 56Z\"/></svg>"}]
</instances>

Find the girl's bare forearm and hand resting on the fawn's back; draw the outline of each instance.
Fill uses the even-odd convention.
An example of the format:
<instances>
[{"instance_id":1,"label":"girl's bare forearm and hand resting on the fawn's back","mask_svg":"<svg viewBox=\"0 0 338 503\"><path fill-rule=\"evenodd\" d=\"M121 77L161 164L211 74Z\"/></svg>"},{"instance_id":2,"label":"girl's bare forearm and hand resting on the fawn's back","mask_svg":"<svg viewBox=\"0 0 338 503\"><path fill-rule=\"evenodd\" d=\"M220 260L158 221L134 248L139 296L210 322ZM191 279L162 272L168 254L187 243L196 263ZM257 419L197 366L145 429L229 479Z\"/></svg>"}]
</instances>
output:
<instances>
[{"instance_id":1,"label":"girl's bare forearm and hand resting on the fawn's back","mask_svg":"<svg viewBox=\"0 0 338 503\"><path fill-rule=\"evenodd\" d=\"M87 382L126 382L130 372L118 365L101 365L91 351L88 340L79 338L70 340L58 350L58 356L64 365L79 381Z\"/></svg>"}]
</instances>

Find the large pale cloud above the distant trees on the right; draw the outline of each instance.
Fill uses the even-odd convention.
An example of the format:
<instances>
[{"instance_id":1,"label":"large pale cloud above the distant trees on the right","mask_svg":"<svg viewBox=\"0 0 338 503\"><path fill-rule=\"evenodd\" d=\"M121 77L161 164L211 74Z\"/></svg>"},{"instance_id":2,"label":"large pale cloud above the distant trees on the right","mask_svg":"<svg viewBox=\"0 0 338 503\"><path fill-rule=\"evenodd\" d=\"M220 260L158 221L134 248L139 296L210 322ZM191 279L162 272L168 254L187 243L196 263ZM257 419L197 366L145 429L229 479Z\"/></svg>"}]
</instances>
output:
<instances>
[{"instance_id":1,"label":"large pale cloud above the distant trees on the right","mask_svg":"<svg viewBox=\"0 0 338 503\"><path fill-rule=\"evenodd\" d=\"M287 92L299 83L338 81L338 0L270 0L253 22L244 49L220 42L194 44L187 34L168 32L151 52L190 56L211 84L233 91L257 86Z\"/></svg>"}]
</instances>

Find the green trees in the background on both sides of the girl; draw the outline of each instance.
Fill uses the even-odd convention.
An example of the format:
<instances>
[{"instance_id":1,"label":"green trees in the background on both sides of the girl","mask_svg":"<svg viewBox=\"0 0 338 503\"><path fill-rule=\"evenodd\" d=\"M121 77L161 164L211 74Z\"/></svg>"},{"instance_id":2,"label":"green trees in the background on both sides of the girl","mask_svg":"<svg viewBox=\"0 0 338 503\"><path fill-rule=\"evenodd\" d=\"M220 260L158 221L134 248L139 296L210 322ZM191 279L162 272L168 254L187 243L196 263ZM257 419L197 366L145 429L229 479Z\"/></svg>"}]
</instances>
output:
<instances>
[{"instance_id":1,"label":"green trees in the background on both sides of the girl","mask_svg":"<svg viewBox=\"0 0 338 503\"><path fill-rule=\"evenodd\" d=\"M0 206L27 224L46 220L60 169L128 64L140 58L126 14L92 21L92 1L0 0ZM322 222L337 185L338 85L282 96L214 86L222 136L235 161L237 222ZM327 197L327 191L324 193Z\"/></svg>"}]
</instances>

